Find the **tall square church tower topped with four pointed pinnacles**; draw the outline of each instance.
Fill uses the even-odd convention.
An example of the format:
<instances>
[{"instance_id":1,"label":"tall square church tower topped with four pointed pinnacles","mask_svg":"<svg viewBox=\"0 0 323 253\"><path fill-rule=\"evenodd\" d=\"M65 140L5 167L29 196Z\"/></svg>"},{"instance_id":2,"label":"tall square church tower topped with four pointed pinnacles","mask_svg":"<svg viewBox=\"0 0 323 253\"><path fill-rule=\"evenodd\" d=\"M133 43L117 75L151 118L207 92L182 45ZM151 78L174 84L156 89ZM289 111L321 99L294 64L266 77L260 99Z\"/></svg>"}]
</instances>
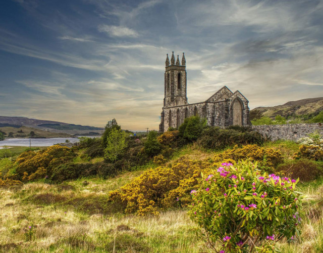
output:
<instances>
[{"instance_id":1,"label":"tall square church tower topped with four pointed pinnacles","mask_svg":"<svg viewBox=\"0 0 323 253\"><path fill-rule=\"evenodd\" d=\"M186 96L186 61L183 53L182 64L180 64L179 56L175 63L174 51L170 59L166 58L165 71L165 98L164 107L172 107L187 104Z\"/></svg>"}]
</instances>

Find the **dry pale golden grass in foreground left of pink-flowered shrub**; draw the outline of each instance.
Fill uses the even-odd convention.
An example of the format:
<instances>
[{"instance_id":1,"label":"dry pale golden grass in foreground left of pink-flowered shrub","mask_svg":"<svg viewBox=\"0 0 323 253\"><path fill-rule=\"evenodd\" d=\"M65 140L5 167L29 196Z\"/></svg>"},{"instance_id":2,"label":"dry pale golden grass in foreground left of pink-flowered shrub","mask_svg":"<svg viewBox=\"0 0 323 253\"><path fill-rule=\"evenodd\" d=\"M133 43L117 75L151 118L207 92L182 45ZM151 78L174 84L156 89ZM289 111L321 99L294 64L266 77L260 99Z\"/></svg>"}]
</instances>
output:
<instances>
[{"instance_id":1,"label":"dry pale golden grass in foreground left of pink-flowered shrub","mask_svg":"<svg viewBox=\"0 0 323 253\"><path fill-rule=\"evenodd\" d=\"M117 185L89 181L73 188L30 183L20 189L0 190L1 252L208 252L193 231L185 210L170 210L160 217L102 215L78 212L66 198L91 198ZM124 183L124 182L122 182ZM120 184L122 184L120 183ZM66 189L65 189L66 188ZM35 196L57 196L46 204ZM48 198L47 198L48 199ZM61 201L62 200L62 201ZM26 239L34 225L33 239Z\"/></svg>"}]
</instances>

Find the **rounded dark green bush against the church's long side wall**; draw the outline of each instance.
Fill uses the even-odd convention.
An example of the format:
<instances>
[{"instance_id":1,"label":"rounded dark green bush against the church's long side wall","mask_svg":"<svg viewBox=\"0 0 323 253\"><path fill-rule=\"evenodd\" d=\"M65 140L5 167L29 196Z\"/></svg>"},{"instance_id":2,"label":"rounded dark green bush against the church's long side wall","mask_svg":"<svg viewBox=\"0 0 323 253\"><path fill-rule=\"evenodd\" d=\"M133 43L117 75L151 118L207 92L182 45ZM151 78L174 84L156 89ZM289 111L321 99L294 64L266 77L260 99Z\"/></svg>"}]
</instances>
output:
<instances>
[{"instance_id":1,"label":"rounded dark green bush against the church's long side wall","mask_svg":"<svg viewBox=\"0 0 323 253\"><path fill-rule=\"evenodd\" d=\"M206 119L199 116L185 118L180 125L180 135L188 141L196 141L200 137L203 129L206 127Z\"/></svg>"}]
</instances>

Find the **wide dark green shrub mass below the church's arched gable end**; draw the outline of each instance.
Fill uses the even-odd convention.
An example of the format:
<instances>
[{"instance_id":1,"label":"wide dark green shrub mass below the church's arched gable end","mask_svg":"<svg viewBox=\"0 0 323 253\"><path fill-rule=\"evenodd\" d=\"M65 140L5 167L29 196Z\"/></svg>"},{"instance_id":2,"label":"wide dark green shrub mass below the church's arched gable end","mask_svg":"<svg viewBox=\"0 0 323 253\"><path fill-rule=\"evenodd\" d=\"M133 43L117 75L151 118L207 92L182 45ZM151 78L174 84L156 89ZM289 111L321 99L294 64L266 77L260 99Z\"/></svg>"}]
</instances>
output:
<instances>
[{"instance_id":1,"label":"wide dark green shrub mass below the church's arched gable end","mask_svg":"<svg viewBox=\"0 0 323 253\"><path fill-rule=\"evenodd\" d=\"M241 126L232 126L229 129L220 129L210 126L203 131L198 139L199 145L208 149L223 149L235 144L258 144L262 145L264 138L255 131Z\"/></svg>"}]
</instances>

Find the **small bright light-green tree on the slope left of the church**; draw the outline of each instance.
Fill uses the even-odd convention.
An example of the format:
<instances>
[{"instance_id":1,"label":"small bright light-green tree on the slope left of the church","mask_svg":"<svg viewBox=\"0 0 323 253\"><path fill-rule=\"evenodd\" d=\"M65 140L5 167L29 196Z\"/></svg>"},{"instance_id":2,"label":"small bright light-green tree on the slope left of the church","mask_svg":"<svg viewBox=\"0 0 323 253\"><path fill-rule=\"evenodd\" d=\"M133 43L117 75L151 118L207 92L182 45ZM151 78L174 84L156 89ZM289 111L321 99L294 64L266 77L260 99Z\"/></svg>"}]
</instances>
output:
<instances>
[{"instance_id":1,"label":"small bright light-green tree on the slope left of the church","mask_svg":"<svg viewBox=\"0 0 323 253\"><path fill-rule=\"evenodd\" d=\"M120 129L113 128L110 135L106 139L104 158L107 160L116 161L120 155L124 153L126 147L126 136Z\"/></svg>"}]
</instances>

